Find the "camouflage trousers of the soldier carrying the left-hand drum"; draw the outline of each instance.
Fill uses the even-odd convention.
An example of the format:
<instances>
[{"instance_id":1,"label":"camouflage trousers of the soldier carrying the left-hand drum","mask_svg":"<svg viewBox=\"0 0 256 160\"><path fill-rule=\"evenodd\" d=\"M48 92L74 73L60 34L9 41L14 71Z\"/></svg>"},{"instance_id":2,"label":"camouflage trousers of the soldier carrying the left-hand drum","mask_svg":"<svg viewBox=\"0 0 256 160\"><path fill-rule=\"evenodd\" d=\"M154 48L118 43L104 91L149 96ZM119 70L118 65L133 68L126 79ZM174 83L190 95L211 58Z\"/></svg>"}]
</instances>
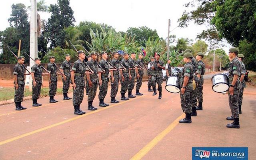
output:
<instances>
[{"instance_id":1,"label":"camouflage trousers of the soldier carrying the left-hand drum","mask_svg":"<svg viewBox=\"0 0 256 160\"><path fill-rule=\"evenodd\" d=\"M180 92L180 105L184 113L191 113L192 111L192 90L185 90L184 94Z\"/></svg>"}]
</instances>

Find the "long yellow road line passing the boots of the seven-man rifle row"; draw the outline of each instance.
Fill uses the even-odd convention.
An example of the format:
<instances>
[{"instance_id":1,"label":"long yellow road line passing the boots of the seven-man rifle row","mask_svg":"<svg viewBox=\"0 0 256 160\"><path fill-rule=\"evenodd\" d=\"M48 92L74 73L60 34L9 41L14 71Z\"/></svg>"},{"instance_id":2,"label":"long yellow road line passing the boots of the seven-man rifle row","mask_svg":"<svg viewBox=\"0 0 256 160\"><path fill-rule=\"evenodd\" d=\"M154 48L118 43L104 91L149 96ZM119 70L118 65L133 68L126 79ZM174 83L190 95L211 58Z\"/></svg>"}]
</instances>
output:
<instances>
[{"instance_id":1,"label":"long yellow road line passing the boots of the seven-man rifle row","mask_svg":"<svg viewBox=\"0 0 256 160\"><path fill-rule=\"evenodd\" d=\"M16 136L16 137L13 137L13 138L9 138L9 139L7 139L7 140L1 141L1 142L0 142L0 146L3 145L3 144L6 144L6 143L12 142L12 141L14 141L14 140L18 140L18 139L23 138L23 137L26 137L26 136L29 136L29 135L32 135L32 134L35 134L35 133L38 133L38 132L42 132L42 131L47 130L47 129L49 129L49 128L53 128L53 127L59 126L59 125L64 124L64 123L71 122L71 121L73 121L73 120L77 120L77 119L79 119L79 118L88 116L88 115L90 115L90 114L95 114L95 113L100 112L100 111L102 111L102 110L106 110L106 109L108 109L108 108L112 108L112 107L114 107L114 106L118 106L118 105L120 105L120 104L124 104L124 103L130 102L130 101L132 101L132 100L136 100L136 99L141 98L141 97L144 97L144 96L139 96L139 97L136 97L136 98L132 98L132 99L130 99L130 100L128 100L128 101L123 101L123 102L120 102L120 103L116 103L116 104L114 104L114 105L111 105L111 106L108 106L108 107L105 107L105 108L101 108L101 109L98 109L98 110L95 110L95 111L92 111L92 112L88 112L88 113L86 113L86 114L83 114L83 115L80 115L80 116L76 116L76 117L74 117L74 118L70 118L70 119L68 119L68 120L64 120L64 121L62 121L62 122L58 122L58 123L56 123L56 124L52 124L52 125L50 125L50 126L46 126L46 127L40 128L40 129L38 129L38 130L34 130L34 131L32 131L32 132L28 132L28 133L25 133L25 134L21 134L20 136Z\"/></svg>"}]
</instances>

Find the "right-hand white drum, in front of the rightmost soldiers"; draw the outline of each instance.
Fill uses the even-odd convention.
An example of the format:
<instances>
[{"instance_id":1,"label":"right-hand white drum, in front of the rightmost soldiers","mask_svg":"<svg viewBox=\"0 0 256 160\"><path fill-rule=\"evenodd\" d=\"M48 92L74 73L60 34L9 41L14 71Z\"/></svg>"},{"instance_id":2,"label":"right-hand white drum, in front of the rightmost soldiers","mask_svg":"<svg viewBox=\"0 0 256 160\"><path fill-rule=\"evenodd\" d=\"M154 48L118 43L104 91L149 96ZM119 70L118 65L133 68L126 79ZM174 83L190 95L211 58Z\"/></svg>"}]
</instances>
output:
<instances>
[{"instance_id":1,"label":"right-hand white drum, in front of the rightmost soldiers","mask_svg":"<svg viewBox=\"0 0 256 160\"><path fill-rule=\"evenodd\" d=\"M214 92L226 92L228 88L228 76L226 74L219 73L212 76L212 90Z\"/></svg>"}]
</instances>

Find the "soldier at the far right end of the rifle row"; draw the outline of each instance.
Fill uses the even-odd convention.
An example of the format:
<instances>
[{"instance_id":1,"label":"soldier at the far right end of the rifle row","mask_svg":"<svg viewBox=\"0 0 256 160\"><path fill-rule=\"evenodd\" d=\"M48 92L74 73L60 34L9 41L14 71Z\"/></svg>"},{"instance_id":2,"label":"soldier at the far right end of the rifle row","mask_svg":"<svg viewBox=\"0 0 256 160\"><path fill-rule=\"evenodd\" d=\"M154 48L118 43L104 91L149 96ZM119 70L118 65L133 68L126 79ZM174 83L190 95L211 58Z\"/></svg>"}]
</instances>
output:
<instances>
[{"instance_id":1,"label":"soldier at the far right end of the rifle row","mask_svg":"<svg viewBox=\"0 0 256 160\"><path fill-rule=\"evenodd\" d=\"M136 60L136 67L138 67L138 65L140 65L142 68L139 68L138 69L138 73L137 73L137 76L136 76L136 78L137 78L137 82L136 82L136 95L137 96L142 96L143 94L142 93L140 93L140 87L141 87L141 85L142 85L142 78L143 78L143 74L144 74L144 70L146 70L146 69L144 69L143 68L143 66L144 66L144 63L143 63L143 53L139 53L139 58L138 58L138 60Z\"/></svg>"}]
</instances>

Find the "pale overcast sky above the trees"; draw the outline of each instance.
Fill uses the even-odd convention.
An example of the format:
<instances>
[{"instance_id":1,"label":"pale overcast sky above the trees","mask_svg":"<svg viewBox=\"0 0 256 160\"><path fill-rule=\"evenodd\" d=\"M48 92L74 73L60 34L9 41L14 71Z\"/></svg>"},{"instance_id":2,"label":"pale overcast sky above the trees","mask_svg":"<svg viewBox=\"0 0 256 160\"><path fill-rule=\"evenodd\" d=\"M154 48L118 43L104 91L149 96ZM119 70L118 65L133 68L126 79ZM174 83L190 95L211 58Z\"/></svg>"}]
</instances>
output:
<instances>
[{"instance_id":1,"label":"pale overcast sky above the trees","mask_svg":"<svg viewBox=\"0 0 256 160\"><path fill-rule=\"evenodd\" d=\"M46 5L57 3L57 0L45 0ZM176 38L189 38L196 42L196 36L206 26L197 26L190 22L187 28L179 28L177 20L182 16L184 4L190 0L70 0L70 6L74 11L75 25L80 21L92 21L108 24L116 31L123 31L129 27L147 26L154 30L162 38L168 37L168 19L171 21L170 35ZM23 3L30 6L30 0L7 0L0 5L0 30L9 27L8 18L11 14L11 5ZM30 12L28 12L30 14ZM40 13L42 19L48 20L50 13ZM229 44L223 48L228 52Z\"/></svg>"}]
</instances>

